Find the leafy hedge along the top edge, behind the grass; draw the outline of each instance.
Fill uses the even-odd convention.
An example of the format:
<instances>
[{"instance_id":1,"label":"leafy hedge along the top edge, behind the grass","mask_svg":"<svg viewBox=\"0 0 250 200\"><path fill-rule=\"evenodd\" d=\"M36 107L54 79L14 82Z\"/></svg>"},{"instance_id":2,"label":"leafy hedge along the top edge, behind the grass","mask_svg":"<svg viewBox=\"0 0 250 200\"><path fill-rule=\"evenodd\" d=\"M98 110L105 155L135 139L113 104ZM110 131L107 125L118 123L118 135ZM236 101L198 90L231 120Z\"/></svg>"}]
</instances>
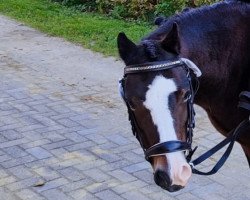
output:
<instances>
[{"instance_id":1,"label":"leafy hedge along the top edge, behind the grass","mask_svg":"<svg viewBox=\"0 0 250 200\"><path fill-rule=\"evenodd\" d=\"M197 7L218 0L53 0L81 11L95 11L118 19L150 20L170 16L184 7Z\"/></svg>"}]
</instances>

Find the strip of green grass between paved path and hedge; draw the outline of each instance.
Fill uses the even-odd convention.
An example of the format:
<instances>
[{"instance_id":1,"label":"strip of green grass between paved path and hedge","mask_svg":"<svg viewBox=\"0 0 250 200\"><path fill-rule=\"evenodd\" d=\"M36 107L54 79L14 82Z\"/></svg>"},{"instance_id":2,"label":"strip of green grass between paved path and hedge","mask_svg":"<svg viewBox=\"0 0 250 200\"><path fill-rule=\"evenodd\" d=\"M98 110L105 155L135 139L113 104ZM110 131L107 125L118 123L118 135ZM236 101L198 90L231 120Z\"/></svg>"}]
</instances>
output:
<instances>
[{"instance_id":1,"label":"strip of green grass between paved path and hedge","mask_svg":"<svg viewBox=\"0 0 250 200\"><path fill-rule=\"evenodd\" d=\"M49 0L0 0L0 13L51 36L117 56L116 38L125 32L137 42L152 29L144 23L125 22L64 7Z\"/></svg>"}]
</instances>

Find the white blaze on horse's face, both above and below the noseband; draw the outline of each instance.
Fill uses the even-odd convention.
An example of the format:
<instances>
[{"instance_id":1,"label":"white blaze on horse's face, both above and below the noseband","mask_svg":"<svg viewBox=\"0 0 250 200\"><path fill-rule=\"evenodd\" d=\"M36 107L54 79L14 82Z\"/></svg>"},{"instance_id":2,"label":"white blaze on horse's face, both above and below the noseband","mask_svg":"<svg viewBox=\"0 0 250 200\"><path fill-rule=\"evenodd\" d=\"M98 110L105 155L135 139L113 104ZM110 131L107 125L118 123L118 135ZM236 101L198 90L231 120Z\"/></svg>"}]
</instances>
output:
<instances>
[{"instance_id":1,"label":"white blaze on horse's face, both above and below the noseband","mask_svg":"<svg viewBox=\"0 0 250 200\"><path fill-rule=\"evenodd\" d=\"M160 143L177 140L174 120L169 109L169 95L177 91L174 80L156 76L148 88L144 106L150 110L152 120L159 133ZM186 183L179 179L180 166L187 164L183 153L173 152L166 156L173 185L185 185Z\"/></svg>"}]
</instances>

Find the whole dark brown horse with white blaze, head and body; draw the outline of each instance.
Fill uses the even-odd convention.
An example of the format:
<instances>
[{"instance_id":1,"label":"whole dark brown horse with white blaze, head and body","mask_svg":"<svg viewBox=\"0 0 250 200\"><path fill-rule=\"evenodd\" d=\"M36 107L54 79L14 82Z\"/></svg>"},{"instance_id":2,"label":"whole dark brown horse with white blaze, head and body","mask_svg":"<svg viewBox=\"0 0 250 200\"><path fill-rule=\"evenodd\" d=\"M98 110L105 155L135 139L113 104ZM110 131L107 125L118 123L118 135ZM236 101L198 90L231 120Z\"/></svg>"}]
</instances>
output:
<instances>
[{"instance_id":1,"label":"whole dark brown horse with white blaze, head and body","mask_svg":"<svg viewBox=\"0 0 250 200\"><path fill-rule=\"evenodd\" d=\"M250 4L218 2L158 24L139 44L119 33L118 51L126 65L120 89L155 183L175 192L192 175L186 159L186 152L194 151L192 103L225 137L249 117L237 105L241 91L250 90ZM237 142L250 164L249 124Z\"/></svg>"}]
</instances>

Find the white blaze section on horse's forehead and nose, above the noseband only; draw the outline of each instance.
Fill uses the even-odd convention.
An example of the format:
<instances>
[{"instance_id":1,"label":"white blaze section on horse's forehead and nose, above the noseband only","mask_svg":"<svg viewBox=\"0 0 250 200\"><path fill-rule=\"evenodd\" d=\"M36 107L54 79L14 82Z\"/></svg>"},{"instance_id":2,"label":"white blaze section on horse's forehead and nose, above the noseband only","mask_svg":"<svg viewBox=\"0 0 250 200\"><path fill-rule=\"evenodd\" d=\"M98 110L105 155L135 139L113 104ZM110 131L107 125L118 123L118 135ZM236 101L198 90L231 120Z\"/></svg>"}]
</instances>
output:
<instances>
[{"instance_id":1,"label":"white blaze section on horse's forehead and nose, above the noseband only","mask_svg":"<svg viewBox=\"0 0 250 200\"><path fill-rule=\"evenodd\" d=\"M173 118L168 106L169 95L177 91L173 79L156 76L148 86L144 106L150 110L154 124L157 126L160 142L177 140Z\"/></svg>"}]
</instances>

